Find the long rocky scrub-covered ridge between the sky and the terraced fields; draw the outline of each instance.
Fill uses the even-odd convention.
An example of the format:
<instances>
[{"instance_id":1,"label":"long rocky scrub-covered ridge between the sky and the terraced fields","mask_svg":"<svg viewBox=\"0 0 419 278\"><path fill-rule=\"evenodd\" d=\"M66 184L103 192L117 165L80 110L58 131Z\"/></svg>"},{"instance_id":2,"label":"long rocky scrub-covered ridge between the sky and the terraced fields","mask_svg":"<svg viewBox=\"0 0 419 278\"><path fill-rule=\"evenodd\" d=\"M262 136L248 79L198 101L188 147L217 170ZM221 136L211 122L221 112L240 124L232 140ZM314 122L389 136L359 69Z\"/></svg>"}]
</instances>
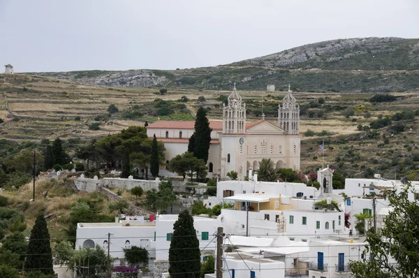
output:
<instances>
[{"instance_id":1,"label":"long rocky scrub-covered ridge between the sky and the terraced fields","mask_svg":"<svg viewBox=\"0 0 419 278\"><path fill-rule=\"evenodd\" d=\"M31 73L111 87L305 92L406 92L419 88L419 39L351 38L295 47L233 64L176 71Z\"/></svg>"}]
</instances>

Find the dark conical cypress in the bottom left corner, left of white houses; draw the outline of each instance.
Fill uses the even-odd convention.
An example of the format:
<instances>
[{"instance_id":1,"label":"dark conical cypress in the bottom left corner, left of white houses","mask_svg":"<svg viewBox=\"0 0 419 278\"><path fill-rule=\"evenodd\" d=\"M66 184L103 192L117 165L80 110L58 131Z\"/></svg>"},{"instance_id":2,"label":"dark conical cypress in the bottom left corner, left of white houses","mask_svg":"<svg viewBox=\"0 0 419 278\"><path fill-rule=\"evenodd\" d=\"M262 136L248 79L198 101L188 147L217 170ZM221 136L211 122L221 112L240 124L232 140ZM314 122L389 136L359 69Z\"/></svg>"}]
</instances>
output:
<instances>
[{"instance_id":1,"label":"dark conical cypress in the bottom left corner, left of white houses","mask_svg":"<svg viewBox=\"0 0 419 278\"><path fill-rule=\"evenodd\" d=\"M45 275L53 275L50 232L43 214L36 217L34 228L29 237L27 257L24 262L27 272L41 270Z\"/></svg>"}]
</instances>

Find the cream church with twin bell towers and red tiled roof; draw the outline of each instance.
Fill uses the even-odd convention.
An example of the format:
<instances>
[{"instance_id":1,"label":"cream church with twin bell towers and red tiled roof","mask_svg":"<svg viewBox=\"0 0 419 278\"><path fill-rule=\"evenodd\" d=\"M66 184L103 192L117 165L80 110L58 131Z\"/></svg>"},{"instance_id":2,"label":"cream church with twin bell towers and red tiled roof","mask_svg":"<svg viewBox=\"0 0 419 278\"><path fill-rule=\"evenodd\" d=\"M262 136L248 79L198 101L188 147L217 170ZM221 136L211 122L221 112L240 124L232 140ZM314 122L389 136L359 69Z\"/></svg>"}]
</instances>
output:
<instances>
[{"instance_id":1,"label":"cream church with twin bell towers and red tiled roof","mask_svg":"<svg viewBox=\"0 0 419 278\"><path fill-rule=\"evenodd\" d=\"M300 106L291 93L288 89L278 107L277 123L268 122L264 115L257 122L247 122L246 103L234 86L228 104L223 105L222 122L210 121L209 177L228 179L227 173L234 170L243 180L249 170L258 170L262 159L271 159L276 168L300 169ZM168 162L187 151L194 125L194 121L158 121L147 126L147 136L152 138L155 134L157 140L164 142ZM160 175L175 173L161 169Z\"/></svg>"}]
</instances>

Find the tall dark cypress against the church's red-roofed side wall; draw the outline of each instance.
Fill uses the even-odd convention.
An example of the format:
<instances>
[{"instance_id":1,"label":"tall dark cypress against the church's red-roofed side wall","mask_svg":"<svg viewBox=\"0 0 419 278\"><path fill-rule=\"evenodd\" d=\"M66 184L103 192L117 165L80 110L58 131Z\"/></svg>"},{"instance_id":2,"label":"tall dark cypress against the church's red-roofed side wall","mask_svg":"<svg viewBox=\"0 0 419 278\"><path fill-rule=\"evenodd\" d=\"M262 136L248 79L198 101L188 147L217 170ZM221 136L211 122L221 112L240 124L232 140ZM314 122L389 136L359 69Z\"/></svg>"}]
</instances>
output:
<instances>
[{"instance_id":1,"label":"tall dark cypress against the church's red-roofed side wall","mask_svg":"<svg viewBox=\"0 0 419 278\"><path fill-rule=\"evenodd\" d=\"M205 163L208 161L208 152L210 151L211 131L210 121L207 119L207 110L200 107L196 112L193 156L203 159Z\"/></svg>"}]
</instances>

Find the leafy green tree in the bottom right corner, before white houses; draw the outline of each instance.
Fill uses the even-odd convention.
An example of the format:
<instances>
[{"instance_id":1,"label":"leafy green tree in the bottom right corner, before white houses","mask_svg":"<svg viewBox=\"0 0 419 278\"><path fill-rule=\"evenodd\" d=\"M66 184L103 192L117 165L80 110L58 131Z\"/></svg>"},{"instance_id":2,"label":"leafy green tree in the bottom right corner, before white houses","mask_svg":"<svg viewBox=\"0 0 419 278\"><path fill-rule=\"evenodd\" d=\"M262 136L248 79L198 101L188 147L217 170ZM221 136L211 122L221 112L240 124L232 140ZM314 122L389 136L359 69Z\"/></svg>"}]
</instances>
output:
<instances>
[{"instance_id":1,"label":"leafy green tree in the bottom right corner, before white houses","mask_svg":"<svg viewBox=\"0 0 419 278\"><path fill-rule=\"evenodd\" d=\"M419 205L409 200L414 193L411 184L401 192L383 191L391 210L380 233L367 231L364 253L370 252L372 259L351 262L353 277L419 277Z\"/></svg>"}]
</instances>

